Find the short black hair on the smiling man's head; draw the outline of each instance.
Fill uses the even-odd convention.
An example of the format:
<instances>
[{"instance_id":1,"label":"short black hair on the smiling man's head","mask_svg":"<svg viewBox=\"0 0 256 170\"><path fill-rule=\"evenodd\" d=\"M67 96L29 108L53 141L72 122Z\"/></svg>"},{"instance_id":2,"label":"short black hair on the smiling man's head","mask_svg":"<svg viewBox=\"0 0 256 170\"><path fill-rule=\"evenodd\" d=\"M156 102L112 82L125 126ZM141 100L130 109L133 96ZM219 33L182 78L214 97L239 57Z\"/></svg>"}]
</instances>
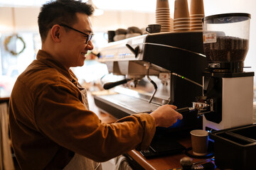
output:
<instances>
[{"instance_id":1,"label":"short black hair on the smiling man's head","mask_svg":"<svg viewBox=\"0 0 256 170\"><path fill-rule=\"evenodd\" d=\"M46 40L48 31L56 23L73 26L78 22L76 13L91 16L94 8L87 3L75 0L55 0L43 4L38 15L38 27L42 42Z\"/></svg>"}]
</instances>

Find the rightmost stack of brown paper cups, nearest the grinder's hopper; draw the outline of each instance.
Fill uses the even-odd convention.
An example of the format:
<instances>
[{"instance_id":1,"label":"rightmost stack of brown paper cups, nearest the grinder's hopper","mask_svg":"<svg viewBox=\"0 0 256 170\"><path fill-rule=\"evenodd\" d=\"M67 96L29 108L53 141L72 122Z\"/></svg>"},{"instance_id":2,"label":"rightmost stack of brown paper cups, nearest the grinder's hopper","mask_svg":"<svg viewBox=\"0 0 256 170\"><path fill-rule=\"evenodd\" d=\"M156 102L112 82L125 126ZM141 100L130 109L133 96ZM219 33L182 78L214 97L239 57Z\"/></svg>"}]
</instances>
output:
<instances>
[{"instance_id":1,"label":"rightmost stack of brown paper cups, nearest the grinder's hopper","mask_svg":"<svg viewBox=\"0 0 256 170\"><path fill-rule=\"evenodd\" d=\"M203 30L202 18L204 17L203 0L191 0L190 18L191 30Z\"/></svg>"}]
</instances>

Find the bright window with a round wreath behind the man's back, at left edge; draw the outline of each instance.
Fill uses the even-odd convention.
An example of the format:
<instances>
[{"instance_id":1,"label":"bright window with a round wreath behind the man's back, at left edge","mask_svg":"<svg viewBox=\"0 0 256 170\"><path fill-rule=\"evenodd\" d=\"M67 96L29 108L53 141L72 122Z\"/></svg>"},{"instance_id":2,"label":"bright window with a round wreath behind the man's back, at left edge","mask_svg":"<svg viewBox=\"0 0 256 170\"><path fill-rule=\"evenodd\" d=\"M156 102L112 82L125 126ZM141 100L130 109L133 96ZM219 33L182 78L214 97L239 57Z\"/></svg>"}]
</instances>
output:
<instances>
[{"instance_id":1,"label":"bright window with a round wreath behind the man's back, at left edge","mask_svg":"<svg viewBox=\"0 0 256 170\"><path fill-rule=\"evenodd\" d=\"M18 33L18 36L25 42L26 48L19 55L12 55L5 49L5 40L11 34L1 34L0 37L0 97L8 97L11 95L11 89L21 72L23 72L28 64L36 57L38 47L41 47L40 37L38 33ZM19 52L23 48L21 40L13 38L7 45L9 50Z\"/></svg>"}]
</instances>

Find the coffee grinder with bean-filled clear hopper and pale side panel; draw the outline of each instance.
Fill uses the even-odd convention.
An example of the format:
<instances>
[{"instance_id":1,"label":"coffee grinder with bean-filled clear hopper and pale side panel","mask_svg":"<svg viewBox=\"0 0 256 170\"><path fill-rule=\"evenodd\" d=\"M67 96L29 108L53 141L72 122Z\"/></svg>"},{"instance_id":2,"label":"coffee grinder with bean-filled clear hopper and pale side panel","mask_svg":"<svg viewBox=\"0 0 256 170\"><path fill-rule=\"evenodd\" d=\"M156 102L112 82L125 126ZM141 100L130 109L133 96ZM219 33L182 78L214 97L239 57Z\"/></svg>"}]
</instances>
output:
<instances>
[{"instance_id":1,"label":"coffee grinder with bean-filled clear hopper and pale side panel","mask_svg":"<svg viewBox=\"0 0 256 170\"><path fill-rule=\"evenodd\" d=\"M207 16L202 22L208 68L203 73L203 96L193 105L201 106L198 114L203 115L203 129L252 124L254 72L243 70L250 14L224 13Z\"/></svg>"}]
</instances>

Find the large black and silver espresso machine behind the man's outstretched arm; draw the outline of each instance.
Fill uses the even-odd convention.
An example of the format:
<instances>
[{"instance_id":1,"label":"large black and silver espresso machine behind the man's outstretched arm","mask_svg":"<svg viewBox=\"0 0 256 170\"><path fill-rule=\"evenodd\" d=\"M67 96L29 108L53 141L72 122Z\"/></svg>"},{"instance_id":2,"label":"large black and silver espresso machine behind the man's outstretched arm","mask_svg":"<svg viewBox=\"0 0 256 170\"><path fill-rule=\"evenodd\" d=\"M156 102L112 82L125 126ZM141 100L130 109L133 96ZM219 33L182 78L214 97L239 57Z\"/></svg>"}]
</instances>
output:
<instances>
[{"instance_id":1,"label":"large black and silver espresso machine behind the man's outstretched arm","mask_svg":"<svg viewBox=\"0 0 256 170\"><path fill-rule=\"evenodd\" d=\"M207 61L202 31L140 35L110 42L98 50L98 61L107 65L110 74L102 78L108 92L95 95L95 105L115 118L151 113L167 103L185 108L196 96L203 96L202 76ZM187 136L198 128L203 128L203 118L197 116L197 111L184 115L169 128L158 127L151 153L143 155L154 157L184 150L174 141L175 135Z\"/></svg>"}]
</instances>

